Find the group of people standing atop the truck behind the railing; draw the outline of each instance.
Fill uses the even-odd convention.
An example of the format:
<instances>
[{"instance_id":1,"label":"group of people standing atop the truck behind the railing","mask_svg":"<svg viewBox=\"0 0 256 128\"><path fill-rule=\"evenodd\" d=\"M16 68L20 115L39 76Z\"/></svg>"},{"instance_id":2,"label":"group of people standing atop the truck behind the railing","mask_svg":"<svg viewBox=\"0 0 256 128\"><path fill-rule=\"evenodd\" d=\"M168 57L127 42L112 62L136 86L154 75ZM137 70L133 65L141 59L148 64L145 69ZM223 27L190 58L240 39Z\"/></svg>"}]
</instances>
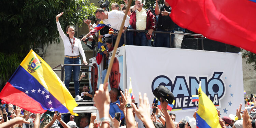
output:
<instances>
[{"instance_id":1,"label":"group of people standing atop the truck behind the railing","mask_svg":"<svg viewBox=\"0 0 256 128\"><path fill-rule=\"evenodd\" d=\"M181 48L184 35L175 34L170 39L169 33L153 33L153 31L185 32L184 28L176 25L170 18L171 6L166 1L163 4L158 4L159 1L156 0L156 7L153 12L152 10L144 9L141 0L135 0L135 5L131 6L131 8L127 8L127 0L124 0L124 2L125 4L120 6L117 3L112 3L112 10L109 12L106 9L97 9L95 12L97 19L93 25L90 19L84 20L90 31L82 39L86 45L91 43L91 41L88 41L88 38L93 39L93 37L95 41L101 38L103 42L105 39L111 38L113 39L112 43L115 43L116 34L109 34L109 29L112 28L114 32L119 31L125 11L128 10L119 47L124 44L124 31L126 29L133 29L143 31L126 31L127 45L170 47L170 41L172 41L174 48ZM154 40L153 44L151 43L152 39ZM95 43L91 44L95 45ZM90 48L90 46L88 47Z\"/></svg>"}]
</instances>

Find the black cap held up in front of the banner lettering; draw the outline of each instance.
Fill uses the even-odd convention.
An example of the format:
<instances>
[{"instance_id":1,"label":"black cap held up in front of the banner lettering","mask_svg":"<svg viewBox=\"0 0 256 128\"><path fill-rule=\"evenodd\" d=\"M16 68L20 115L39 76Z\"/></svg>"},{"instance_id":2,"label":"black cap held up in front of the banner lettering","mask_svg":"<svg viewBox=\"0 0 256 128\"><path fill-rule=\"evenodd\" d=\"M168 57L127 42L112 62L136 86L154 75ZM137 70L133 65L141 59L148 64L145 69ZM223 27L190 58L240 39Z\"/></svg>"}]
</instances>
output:
<instances>
[{"instance_id":1,"label":"black cap held up in front of the banner lettering","mask_svg":"<svg viewBox=\"0 0 256 128\"><path fill-rule=\"evenodd\" d=\"M158 86L154 91L153 94L157 99L160 100L162 98L164 101L166 101L169 104L172 104L174 96L172 92L165 86Z\"/></svg>"}]
</instances>

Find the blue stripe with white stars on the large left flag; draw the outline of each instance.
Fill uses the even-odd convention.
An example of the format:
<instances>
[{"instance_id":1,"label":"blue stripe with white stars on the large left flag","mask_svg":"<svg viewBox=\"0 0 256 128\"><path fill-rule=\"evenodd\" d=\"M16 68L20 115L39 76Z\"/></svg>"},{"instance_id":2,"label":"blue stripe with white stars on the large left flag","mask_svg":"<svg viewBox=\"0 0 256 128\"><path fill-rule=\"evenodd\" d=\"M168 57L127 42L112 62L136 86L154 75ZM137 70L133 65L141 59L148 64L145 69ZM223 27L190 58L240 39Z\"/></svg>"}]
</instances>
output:
<instances>
[{"instance_id":1,"label":"blue stripe with white stars on the large left flag","mask_svg":"<svg viewBox=\"0 0 256 128\"><path fill-rule=\"evenodd\" d=\"M39 102L44 110L68 112L68 109L63 106L49 91L41 85L37 79L29 74L22 66L19 66L9 80L16 89L28 92L28 96ZM40 92L39 92L40 89ZM32 90L35 90L32 92ZM44 93L42 94L42 92ZM52 102L52 103L49 103ZM50 109L54 108L54 109Z\"/></svg>"}]
</instances>

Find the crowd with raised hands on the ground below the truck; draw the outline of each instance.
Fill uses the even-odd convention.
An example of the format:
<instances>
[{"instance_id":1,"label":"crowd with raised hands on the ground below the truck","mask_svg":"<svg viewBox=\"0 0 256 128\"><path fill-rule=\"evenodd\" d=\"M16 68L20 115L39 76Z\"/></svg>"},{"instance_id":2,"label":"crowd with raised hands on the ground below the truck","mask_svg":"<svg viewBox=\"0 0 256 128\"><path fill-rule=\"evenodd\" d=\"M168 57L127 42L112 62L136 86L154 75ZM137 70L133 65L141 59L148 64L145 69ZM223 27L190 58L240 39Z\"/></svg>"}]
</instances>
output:
<instances>
[{"instance_id":1,"label":"crowd with raised hands on the ground below the truck","mask_svg":"<svg viewBox=\"0 0 256 128\"><path fill-rule=\"evenodd\" d=\"M83 89L83 91L86 91ZM57 111L52 117L40 120L41 114L30 113L19 106L12 104L1 104L0 127L1 128L138 128L140 119L146 128L196 128L197 117L194 115L183 115L184 118L176 120L175 113L169 113L167 110L168 102L160 98L160 106L149 103L147 95L139 93L139 106L131 99L127 89L124 93L120 91L121 97L118 97L118 89L108 90L108 83L101 84L95 92L95 106L99 115L91 113L90 116L80 116L79 124L74 120L73 115L63 121L61 113ZM222 128L255 128L255 97L245 98L245 109L242 110L242 103L239 105L235 115L219 116L219 123ZM152 109L156 108L155 112ZM120 118L115 117L115 113L121 113ZM99 120L96 117L99 116ZM40 124L41 123L41 124Z\"/></svg>"}]
</instances>

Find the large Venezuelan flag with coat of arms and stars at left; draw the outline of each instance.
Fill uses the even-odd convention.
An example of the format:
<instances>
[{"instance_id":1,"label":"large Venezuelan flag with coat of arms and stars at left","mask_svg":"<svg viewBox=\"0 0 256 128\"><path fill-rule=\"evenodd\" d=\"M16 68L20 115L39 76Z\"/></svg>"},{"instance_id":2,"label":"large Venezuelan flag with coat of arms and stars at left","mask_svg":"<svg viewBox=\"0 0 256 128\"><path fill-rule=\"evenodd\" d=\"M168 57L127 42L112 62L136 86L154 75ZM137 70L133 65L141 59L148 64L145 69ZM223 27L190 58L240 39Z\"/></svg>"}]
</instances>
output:
<instances>
[{"instance_id":1,"label":"large Venezuelan flag with coat of arms and stars at left","mask_svg":"<svg viewBox=\"0 0 256 128\"><path fill-rule=\"evenodd\" d=\"M77 106L51 67L31 50L0 93L0 99L32 113L70 112Z\"/></svg>"}]
</instances>

